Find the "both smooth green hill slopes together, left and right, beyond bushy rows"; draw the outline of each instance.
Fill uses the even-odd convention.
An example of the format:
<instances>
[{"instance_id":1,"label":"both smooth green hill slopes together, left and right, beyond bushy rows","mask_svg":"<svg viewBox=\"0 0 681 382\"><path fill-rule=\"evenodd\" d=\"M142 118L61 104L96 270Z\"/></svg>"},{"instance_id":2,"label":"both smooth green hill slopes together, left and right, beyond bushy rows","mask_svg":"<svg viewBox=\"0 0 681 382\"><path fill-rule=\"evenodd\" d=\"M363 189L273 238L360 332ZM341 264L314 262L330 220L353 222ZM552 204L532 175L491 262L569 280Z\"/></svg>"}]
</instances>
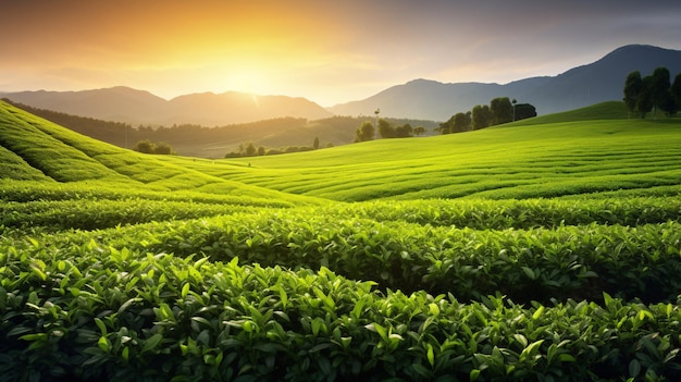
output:
<instances>
[{"instance_id":1,"label":"both smooth green hill slopes together, left and right, beyond bushy rows","mask_svg":"<svg viewBox=\"0 0 681 382\"><path fill-rule=\"evenodd\" d=\"M220 161L145 156L7 103L1 110L2 152L20 170L12 178L358 201L666 193L669 187L677 193L681 176L679 120L629 120L621 102L463 134Z\"/></svg>"}]
</instances>

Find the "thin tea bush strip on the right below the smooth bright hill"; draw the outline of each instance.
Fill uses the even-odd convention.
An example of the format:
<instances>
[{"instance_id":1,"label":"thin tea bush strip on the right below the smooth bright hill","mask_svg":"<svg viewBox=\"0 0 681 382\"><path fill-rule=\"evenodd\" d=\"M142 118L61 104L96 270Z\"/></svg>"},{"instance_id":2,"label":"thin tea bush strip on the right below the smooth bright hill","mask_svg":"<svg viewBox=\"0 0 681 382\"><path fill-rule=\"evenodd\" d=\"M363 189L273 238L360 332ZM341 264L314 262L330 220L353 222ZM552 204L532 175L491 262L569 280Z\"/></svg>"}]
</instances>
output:
<instances>
[{"instance_id":1,"label":"thin tea bush strip on the right below the smooth bright hill","mask_svg":"<svg viewBox=\"0 0 681 382\"><path fill-rule=\"evenodd\" d=\"M376 221L451 225L478 230L554 227L579 224L641 225L681 219L681 198L614 198L577 200L377 200L334 204L320 213Z\"/></svg>"}]
</instances>

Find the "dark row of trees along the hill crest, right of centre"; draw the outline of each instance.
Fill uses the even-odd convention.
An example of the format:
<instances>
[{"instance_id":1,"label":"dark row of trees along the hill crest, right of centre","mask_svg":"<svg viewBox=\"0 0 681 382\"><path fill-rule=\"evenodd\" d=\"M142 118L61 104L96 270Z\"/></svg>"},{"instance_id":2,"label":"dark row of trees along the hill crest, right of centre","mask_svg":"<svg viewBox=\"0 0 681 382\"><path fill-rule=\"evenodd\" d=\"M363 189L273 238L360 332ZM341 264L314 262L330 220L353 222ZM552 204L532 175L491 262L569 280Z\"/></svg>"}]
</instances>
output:
<instances>
[{"instance_id":1,"label":"dark row of trees along the hill crest, right of centre","mask_svg":"<svg viewBox=\"0 0 681 382\"><path fill-rule=\"evenodd\" d=\"M451 134L480 130L503 123L536 116L536 109L530 103L517 103L508 97L497 97L490 104L478 104L473 110L458 112L439 124L441 134Z\"/></svg>"}]
</instances>

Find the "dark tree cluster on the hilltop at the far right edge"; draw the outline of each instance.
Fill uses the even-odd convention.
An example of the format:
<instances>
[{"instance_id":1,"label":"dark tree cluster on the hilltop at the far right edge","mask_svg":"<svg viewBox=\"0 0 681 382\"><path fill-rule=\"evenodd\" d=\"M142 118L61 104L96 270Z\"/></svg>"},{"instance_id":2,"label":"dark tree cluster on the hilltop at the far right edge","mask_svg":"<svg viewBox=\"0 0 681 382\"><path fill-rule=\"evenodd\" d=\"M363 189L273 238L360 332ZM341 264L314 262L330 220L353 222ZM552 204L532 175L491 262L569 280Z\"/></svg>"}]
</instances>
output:
<instances>
[{"instance_id":1,"label":"dark tree cluster on the hilltop at the far right edge","mask_svg":"<svg viewBox=\"0 0 681 382\"><path fill-rule=\"evenodd\" d=\"M673 84L667 67L657 67L653 74L641 77L641 72L629 73L624 82L624 103L630 113L642 119L651 111L672 116L681 109L681 73Z\"/></svg>"}]
</instances>

